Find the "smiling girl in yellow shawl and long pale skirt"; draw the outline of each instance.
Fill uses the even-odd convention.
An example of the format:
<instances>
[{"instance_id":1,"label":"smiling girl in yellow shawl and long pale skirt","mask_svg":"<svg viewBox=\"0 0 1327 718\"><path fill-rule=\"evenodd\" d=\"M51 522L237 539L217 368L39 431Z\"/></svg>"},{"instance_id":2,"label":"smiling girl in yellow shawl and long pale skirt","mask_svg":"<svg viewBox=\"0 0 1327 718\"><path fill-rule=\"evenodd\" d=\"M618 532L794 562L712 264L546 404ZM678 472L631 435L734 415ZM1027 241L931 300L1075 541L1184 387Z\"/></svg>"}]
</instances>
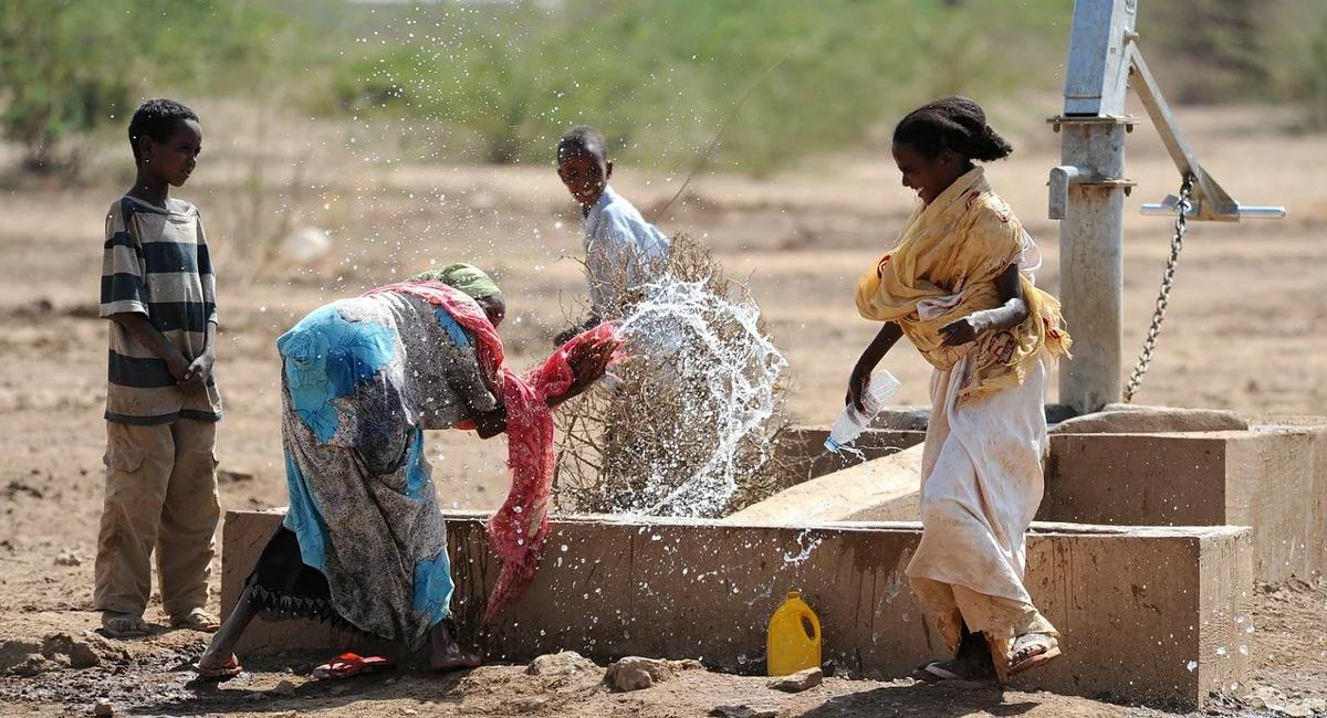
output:
<instances>
[{"instance_id":1,"label":"smiling girl in yellow shawl and long pale skirt","mask_svg":"<svg viewBox=\"0 0 1327 718\"><path fill-rule=\"evenodd\" d=\"M1003 678L1060 654L1023 586L1023 534L1042 501L1046 367L1070 338L1059 303L1032 285L1035 245L973 164L1011 151L963 97L905 117L893 155L921 204L857 285L857 310L885 325L847 400L861 408L904 335L936 367L908 576L955 657L922 666L926 680Z\"/></svg>"}]
</instances>

